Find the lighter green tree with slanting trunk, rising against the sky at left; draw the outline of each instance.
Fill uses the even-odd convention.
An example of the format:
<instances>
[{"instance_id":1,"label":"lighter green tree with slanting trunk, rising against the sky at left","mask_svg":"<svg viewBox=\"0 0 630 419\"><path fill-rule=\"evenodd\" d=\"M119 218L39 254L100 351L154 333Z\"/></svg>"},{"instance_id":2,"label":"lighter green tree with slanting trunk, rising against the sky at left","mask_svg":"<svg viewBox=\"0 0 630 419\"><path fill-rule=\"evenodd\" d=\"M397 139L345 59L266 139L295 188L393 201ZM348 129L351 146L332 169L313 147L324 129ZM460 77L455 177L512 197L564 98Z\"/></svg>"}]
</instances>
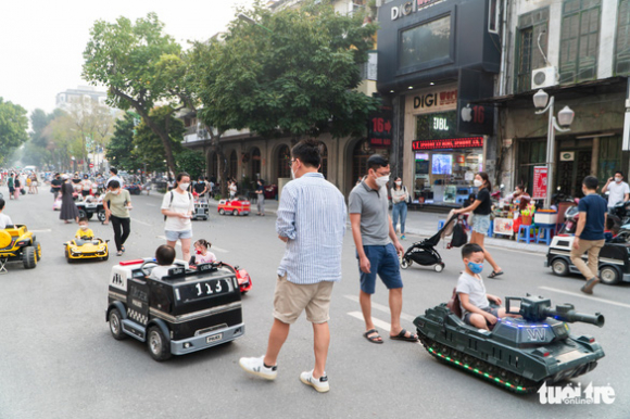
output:
<instances>
[{"instance_id":1,"label":"lighter green tree with slanting trunk, rising against the sky at left","mask_svg":"<svg viewBox=\"0 0 630 419\"><path fill-rule=\"evenodd\" d=\"M175 173L168 127L150 116L156 102L175 100L169 89L172 80L164 77L159 63L162 56L179 55L181 48L171 36L162 34L163 28L154 13L138 18L135 25L126 17L114 24L97 21L84 52L83 76L108 86L112 105L122 110L133 107L142 117L161 139L168 168ZM175 112L175 107L171 110Z\"/></svg>"}]
</instances>

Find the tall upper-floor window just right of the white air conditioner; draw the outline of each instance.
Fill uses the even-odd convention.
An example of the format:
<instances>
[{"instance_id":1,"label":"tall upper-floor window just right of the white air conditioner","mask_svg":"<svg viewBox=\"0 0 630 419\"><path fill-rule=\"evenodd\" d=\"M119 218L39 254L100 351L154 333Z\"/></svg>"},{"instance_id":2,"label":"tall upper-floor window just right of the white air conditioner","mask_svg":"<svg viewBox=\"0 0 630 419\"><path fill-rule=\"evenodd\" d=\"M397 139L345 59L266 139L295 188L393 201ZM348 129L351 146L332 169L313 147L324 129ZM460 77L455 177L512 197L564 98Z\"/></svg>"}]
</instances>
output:
<instances>
[{"instance_id":1,"label":"tall upper-floor window just right of the white air conditioner","mask_svg":"<svg viewBox=\"0 0 630 419\"><path fill-rule=\"evenodd\" d=\"M560 31L560 84L597 76L601 0L565 0Z\"/></svg>"}]
</instances>

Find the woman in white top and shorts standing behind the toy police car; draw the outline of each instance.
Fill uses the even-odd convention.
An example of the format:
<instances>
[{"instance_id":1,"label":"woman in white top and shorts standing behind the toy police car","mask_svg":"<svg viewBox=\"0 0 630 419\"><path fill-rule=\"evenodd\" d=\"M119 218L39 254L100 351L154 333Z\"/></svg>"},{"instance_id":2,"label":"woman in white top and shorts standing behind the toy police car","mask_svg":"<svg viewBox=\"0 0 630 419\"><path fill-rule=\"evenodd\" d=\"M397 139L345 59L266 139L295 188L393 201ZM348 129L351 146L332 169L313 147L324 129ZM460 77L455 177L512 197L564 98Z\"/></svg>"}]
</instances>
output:
<instances>
[{"instance_id":1,"label":"woman in white top and shorts standing behind the toy police car","mask_svg":"<svg viewBox=\"0 0 630 419\"><path fill-rule=\"evenodd\" d=\"M177 175L176 187L166 192L162 201L162 214L166 216L164 233L166 244L175 249L177 240L181 242L184 261L190 261L190 241L192 239L192 223L190 217L194 208L192 195L188 192L190 175L180 173Z\"/></svg>"}]
</instances>

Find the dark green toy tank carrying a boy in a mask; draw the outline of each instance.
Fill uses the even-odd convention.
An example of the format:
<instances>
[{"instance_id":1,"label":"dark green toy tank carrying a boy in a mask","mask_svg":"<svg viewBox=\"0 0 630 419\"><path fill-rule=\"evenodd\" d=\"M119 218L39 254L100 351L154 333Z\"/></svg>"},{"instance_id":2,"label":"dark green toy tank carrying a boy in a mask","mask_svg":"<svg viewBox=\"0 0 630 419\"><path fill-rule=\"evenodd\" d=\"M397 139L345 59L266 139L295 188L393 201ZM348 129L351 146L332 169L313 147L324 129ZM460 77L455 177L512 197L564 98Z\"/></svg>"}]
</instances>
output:
<instances>
[{"instance_id":1,"label":"dark green toy tank carrying a boy in a mask","mask_svg":"<svg viewBox=\"0 0 630 419\"><path fill-rule=\"evenodd\" d=\"M571 304L552 308L542 296L506 297L506 310L521 317L497 319L492 331L476 329L446 304L414 320L425 348L436 358L515 393L593 370L604 357L590 335L570 334L567 322L604 326L604 316L579 314Z\"/></svg>"}]
</instances>

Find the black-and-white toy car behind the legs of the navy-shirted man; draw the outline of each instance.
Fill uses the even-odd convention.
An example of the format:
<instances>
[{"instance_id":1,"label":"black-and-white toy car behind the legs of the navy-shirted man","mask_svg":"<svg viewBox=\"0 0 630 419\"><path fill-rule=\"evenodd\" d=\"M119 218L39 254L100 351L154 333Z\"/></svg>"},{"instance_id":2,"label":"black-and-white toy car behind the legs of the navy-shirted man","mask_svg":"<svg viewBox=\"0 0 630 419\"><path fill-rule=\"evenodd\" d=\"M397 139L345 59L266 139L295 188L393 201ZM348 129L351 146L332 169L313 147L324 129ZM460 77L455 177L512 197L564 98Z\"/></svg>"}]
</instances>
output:
<instances>
[{"instance_id":1,"label":"black-and-white toy car behind the legs of the navy-shirted man","mask_svg":"<svg viewBox=\"0 0 630 419\"><path fill-rule=\"evenodd\" d=\"M570 274L580 274L576 265L571 263L571 247L574 236L556 236L546 254L545 267L560 277ZM582 258L587 259L584 254ZM602 283L614 284L630 282L630 244L606 243L600 252L600 279Z\"/></svg>"}]
</instances>

